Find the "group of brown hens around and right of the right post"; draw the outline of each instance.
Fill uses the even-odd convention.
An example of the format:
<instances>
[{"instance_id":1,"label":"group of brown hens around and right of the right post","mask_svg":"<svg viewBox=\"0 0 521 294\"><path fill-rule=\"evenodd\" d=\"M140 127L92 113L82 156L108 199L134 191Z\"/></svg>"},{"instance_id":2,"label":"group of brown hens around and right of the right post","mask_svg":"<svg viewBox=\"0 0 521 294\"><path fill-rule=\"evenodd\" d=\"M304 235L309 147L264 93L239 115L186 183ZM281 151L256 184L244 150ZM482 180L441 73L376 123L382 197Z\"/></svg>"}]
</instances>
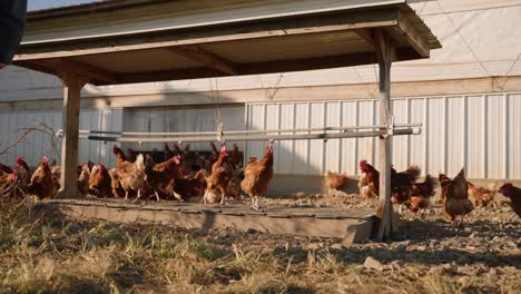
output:
<instances>
[{"instance_id":1,"label":"group of brown hens around and right of the right post","mask_svg":"<svg viewBox=\"0 0 521 294\"><path fill-rule=\"evenodd\" d=\"M374 198L380 195L380 173L366 160L360 161L360 170L362 177L358 180L360 193L367 197ZM407 207L414 217L417 212L423 212L431 205L430 198L435 194L436 180L426 175L424 182L416 183L420 178L421 170L417 166L411 166L405 171L397 173L394 168L391 169L391 195L393 204L400 205L400 213L403 207ZM330 189L341 189L347 182L347 175L326 173L326 184ZM472 212L474 205L469 199L471 195L475 199L476 206L488 206L494 203L497 192L510 198L509 205L521 217L521 189L514 187L511 183L505 183L499 190L495 190L494 183L491 187L479 187L465 179L464 169L456 175L454 179L450 179L446 175L439 175L439 183L442 189L441 202L443 212L449 222L455 225L456 217L461 220L459 226L463 224L463 216Z\"/></svg>"}]
</instances>

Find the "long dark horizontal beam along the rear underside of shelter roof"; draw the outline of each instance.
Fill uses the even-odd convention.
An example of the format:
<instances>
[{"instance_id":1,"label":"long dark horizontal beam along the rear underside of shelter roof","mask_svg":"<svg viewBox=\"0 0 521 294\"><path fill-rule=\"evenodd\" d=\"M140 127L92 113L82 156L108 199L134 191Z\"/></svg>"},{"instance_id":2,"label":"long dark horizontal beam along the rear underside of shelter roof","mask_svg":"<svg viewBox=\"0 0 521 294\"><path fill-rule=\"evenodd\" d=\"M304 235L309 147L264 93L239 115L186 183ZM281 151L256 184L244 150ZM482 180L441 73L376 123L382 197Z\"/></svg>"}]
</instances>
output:
<instances>
[{"instance_id":1,"label":"long dark horizontal beam along the rear underside of shelter roof","mask_svg":"<svg viewBox=\"0 0 521 294\"><path fill-rule=\"evenodd\" d=\"M325 68L340 68L360 65L374 63L374 52L362 52L353 55L328 56L317 58L302 58L292 60L273 60L265 62L255 62L247 65L235 65L237 75L260 75L301 70L314 70ZM121 76L119 82L147 82L161 80L179 80L195 78L213 78L219 77L223 74L216 69L208 68L187 68L174 69L155 72L135 72Z\"/></svg>"}]
</instances>

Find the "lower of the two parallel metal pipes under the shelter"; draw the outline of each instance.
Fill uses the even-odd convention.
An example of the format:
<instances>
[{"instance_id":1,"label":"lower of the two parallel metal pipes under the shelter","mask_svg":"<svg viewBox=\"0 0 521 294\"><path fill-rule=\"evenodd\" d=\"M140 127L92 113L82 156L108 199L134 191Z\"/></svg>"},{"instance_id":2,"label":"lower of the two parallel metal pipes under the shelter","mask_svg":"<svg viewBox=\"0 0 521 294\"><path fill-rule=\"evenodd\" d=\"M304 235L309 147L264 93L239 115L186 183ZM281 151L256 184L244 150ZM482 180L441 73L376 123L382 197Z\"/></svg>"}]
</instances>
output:
<instances>
[{"instance_id":1,"label":"lower of the two parallel metal pipes under the shelter","mask_svg":"<svg viewBox=\"0 0 521 294\"><path fill-rule=\"evenodd\" d=\"M386 135L387 130L353 131L353 133L322 133L322 134L302 134L302 135L255 135L255 136L223 136L227 141L252 141L252 140L313 140L313 139L340 139L340 138L361 138L376 137ZM394 129L394 136L415 135L413 128ZM89 140L120 141L120 143L200 143L216 141L216 137L174 137L174 138L124 138L124 137L104 137L88 136Z\"/></svg>"}]
</instances>

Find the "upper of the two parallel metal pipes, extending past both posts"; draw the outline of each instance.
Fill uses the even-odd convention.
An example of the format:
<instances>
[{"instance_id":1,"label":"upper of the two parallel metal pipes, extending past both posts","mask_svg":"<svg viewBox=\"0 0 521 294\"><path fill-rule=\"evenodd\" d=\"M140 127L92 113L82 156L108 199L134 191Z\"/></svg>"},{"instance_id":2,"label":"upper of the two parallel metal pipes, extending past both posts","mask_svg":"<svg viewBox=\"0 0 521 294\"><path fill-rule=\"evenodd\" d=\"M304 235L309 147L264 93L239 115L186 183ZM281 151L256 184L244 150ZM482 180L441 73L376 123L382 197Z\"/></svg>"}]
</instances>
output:
<instances>
[{"instance_id":1,"label":"upper of the two parallel metal pipes, extending past both posts","mask_svg":"<svg viewBox=\"0 0 521 294\"><path fill-rule=\"evenodd\" d=\"M394 128L422 127L422 124L403 124L394 125ZM350 127L317 127L317 128L287 128L287 129L253 129L253 130L224 130L226 135L243 135L243 134L269 134L269 133L299 133L299 131L320 131L320 130L356 130L356 129L380 129L387 126L350 126ZM59 130L61 131L61 130ZM108 131L108 130L79 130L80 134L101 134L101 135L119 135L119 136L199 136L199 135L216 135L216 130L212 131L184 131L184 133L144 133L144 131Z\"/></svg>"}]
</instances>

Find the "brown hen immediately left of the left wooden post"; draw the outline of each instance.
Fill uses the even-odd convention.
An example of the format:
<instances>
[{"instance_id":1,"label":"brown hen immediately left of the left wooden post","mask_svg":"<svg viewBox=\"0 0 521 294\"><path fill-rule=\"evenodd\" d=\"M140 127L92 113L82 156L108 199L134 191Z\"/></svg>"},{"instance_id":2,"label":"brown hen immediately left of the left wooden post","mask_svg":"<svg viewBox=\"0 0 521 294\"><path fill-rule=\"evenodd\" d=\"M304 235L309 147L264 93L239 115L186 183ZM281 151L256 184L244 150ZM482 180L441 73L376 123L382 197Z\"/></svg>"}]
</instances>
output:
<instances>
[{"instance_id":1,"label":"brown hen immediately left of the left wooden post","mask_svg":"<svg viewBox=\"0 0 521 294\"><path fill-rule=\"evenodd\" d=\"M49 159L43 157L38 168L32 173L31 180L27 186L30 194L36 195L39 199L50 199L58 192L58 187L52 178L49 167Z\"/></svg>"}]
</instances>

